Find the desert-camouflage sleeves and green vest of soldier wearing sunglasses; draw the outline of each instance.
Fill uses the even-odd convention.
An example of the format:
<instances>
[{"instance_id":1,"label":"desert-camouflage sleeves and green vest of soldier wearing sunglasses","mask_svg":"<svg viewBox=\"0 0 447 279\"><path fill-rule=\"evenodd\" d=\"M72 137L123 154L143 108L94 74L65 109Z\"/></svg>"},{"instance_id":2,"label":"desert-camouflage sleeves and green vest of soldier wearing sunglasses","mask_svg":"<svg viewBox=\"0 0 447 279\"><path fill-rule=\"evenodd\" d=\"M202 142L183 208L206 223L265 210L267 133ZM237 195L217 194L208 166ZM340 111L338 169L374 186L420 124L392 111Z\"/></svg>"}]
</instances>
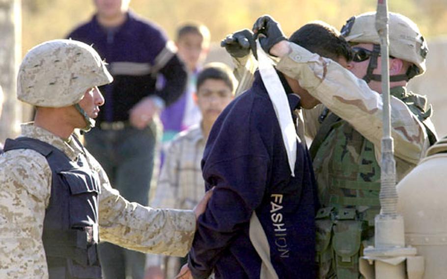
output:
<instances>
[{"instance_id":1,"label":"desert-camouflage sleeves and green vest of soldier wearing sunglasses","mask_svg":"<svg viewBox=\"0 0 447 279\"><path fill-rule=\"evenodd\" d=\"M313 154L324 206L317 214L320 276L327 278L335 272L337 278L358 278L359 251L362 245L373 243L374 216L380 210L382 97L338 63L290 46L292 51L278 63L279 71L299 80L330 110L327 117L334 117ZM429 135L436 135L424 97L407 92L405 87L394 87L391 94L391 133L399 181L419 162L430 144ZM315 128L319 122L314 120L307 122L313 133L323 129Z\"/></svg>"}]
</instances>

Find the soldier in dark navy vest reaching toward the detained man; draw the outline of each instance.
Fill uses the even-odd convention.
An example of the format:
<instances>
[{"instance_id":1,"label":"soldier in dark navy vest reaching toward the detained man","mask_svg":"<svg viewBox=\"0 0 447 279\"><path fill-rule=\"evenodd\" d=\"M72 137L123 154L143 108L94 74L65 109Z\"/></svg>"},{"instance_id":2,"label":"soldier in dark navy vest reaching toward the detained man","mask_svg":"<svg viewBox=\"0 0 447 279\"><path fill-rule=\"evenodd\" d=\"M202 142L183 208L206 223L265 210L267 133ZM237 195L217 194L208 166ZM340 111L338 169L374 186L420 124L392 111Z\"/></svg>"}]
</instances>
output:
<instances>
[{"instance_id":1,"label":"soldier in dark navy vest reaching toward the detained man","mask_svg":"<svg viewBox=\"0 0 447 279\"><path fill-rule=\"evenodd\" d=\"M73 134L94 125L104 103L97 86L111 82L99 55L78 41L48 41L25 56L17 95L36 115L0 156L0 278L101 278L99 239L151 253L189 250L210 194L194 211L128 202Z\"/></svg>"}]
</instances>

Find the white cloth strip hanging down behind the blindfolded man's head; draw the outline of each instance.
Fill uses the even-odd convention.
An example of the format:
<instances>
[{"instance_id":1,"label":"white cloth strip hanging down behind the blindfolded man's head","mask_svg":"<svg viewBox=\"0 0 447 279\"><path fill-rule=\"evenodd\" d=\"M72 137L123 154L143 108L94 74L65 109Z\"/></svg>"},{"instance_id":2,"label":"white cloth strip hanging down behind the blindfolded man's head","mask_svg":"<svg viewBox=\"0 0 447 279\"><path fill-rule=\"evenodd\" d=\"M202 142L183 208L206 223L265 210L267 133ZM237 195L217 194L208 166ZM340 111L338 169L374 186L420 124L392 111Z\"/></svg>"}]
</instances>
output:
<instances>
[{"instance_id":1,"label":"white cloth strip hanging down behind the blindfolded man's head","mask_svg":"<svg viewBox=\"0 0 447 279\"><path fill-rule=\"evenodd\" d=\"M272 101L273 108L275 109L276 116L278 118L279 127L281 128L282 140L287 152L287 158L289 161L290 172L292 176L295 176L295 162L297 152L297 135L295 125L293 123L292 113L290 112L289 101L285 93L284 87L282 87L279 76L273 67L273 61L262 50L259 41L257 44L257 55L259 61L259 73L261 74L262 81L269 93L270 100Z\"/></svg>"}]
</instances>

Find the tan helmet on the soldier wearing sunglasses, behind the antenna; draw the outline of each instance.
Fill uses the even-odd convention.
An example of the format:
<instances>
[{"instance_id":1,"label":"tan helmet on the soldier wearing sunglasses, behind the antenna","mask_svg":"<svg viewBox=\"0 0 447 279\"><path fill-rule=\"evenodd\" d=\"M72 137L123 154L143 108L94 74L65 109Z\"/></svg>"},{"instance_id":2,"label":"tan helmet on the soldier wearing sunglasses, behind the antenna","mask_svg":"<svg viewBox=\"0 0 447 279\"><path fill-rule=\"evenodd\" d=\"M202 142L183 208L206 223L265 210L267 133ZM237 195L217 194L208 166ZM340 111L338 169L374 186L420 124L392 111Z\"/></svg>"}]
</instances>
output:
<instances>
[{"instance_id":1,"label":"tan helmet on the soldier wearing sunglasses, behind the antenna","mask_svg":"<svg viewBox=\"0 0 447 279\"><path fill-rule=\"evenodd\" d=\"M352 17L341 29L341 34L348 42L380 45L375 20L375 12ZM389 13L388 23L390 56L414 63L418 69L413 76L421 75L425 72L428 48L418 26L406 16L392 12Z\"/></svg>"}]
</instances>

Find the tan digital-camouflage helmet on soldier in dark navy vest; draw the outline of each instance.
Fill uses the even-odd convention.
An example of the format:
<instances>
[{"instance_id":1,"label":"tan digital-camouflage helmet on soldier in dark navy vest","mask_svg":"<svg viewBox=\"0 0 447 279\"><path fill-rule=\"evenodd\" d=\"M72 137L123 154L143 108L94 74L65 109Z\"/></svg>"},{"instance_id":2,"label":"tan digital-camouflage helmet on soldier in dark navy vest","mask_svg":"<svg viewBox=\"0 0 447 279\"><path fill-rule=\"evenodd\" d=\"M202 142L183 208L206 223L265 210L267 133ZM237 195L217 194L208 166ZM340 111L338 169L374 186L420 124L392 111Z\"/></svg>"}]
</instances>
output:
<instances>
[{"instance_id":1,"label":"tan digital-camouflage helmet on soldier in dark navy vest","mask_svg":"<svg viewBox=\"0 0 447 279\"><path fill-rule=\"evenodd\" d=\"M113 80L98 53L74 40L53 40L35 46L22 61L17 98L39 107L77 104L84 92Z\"/></svg>"}]
</instances>

